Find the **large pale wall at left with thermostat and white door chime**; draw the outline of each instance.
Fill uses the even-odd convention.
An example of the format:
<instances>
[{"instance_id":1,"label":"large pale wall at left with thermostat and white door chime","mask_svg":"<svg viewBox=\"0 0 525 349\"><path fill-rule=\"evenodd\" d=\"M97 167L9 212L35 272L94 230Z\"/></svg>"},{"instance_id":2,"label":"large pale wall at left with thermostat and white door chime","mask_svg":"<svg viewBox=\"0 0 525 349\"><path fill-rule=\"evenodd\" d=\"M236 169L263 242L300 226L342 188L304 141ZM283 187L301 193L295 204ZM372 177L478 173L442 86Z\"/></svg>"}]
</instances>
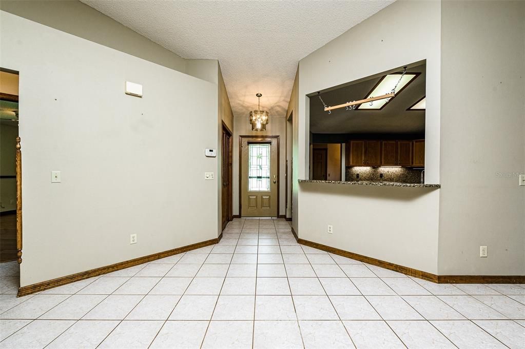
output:
<instances>
[{"instance_id":1,"label":"large pale wall at left with thermostat and white door chime","mask_svg":"<svg viewBox=\"0 0 525 349\"><path fill-rule=\"evenodd\" d=\"M6 12L0 33L24 115L22 286L217 237L216 84Z\"/></svg>"}]
</instances>

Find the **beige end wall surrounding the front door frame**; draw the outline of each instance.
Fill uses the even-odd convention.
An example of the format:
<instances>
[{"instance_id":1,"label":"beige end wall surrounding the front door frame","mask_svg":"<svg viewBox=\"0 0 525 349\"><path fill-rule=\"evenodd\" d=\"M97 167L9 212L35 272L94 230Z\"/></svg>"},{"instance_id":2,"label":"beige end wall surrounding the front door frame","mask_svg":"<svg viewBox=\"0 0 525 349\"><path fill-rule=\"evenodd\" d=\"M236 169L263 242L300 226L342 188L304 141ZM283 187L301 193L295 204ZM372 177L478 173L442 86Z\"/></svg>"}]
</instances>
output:
<instances>
[{"instance_id":1,"label":"beige end wall surrounding the front door frame","mask_svg":"<svg viewBox=\"0 0 525 349\"><path fill-rule=\"evenodd\" d=\"M286 214L285 164L286 164L286 119L271 117L266 131L252 131L246 117L234 118L233 130L233 214L239 214L239 136L279 136L279 215Z\"/></svg>"}]
</instances>

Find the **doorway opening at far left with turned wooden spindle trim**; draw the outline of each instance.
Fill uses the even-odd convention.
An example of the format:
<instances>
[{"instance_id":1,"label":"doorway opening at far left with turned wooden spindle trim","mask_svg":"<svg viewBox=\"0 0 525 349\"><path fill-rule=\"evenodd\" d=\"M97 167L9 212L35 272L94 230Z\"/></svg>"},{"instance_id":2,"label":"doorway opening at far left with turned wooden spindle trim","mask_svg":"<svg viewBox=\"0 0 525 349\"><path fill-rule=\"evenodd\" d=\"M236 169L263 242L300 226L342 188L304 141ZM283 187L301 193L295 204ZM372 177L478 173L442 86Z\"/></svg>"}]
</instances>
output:
<instances>
[{"instance_id":1,"label":"doorway opening at far left with turned wooden spindle trim","mask_svg":"<svg viewBox=\"0 0 525 349\"><path fill-rule=\"evenodd\" d=\"M22 261L18 72L0 68L0 263Z\"/></svg>"}]
</instances>

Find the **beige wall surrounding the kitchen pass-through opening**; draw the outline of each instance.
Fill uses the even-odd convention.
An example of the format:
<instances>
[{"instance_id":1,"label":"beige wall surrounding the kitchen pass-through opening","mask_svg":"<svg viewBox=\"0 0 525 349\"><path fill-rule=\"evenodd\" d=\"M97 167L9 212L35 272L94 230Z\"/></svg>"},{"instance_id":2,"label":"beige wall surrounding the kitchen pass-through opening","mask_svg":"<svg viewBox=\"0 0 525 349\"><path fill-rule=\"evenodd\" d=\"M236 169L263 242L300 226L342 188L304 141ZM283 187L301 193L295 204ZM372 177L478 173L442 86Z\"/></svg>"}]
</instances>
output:
<instances>
[{"instance_id":1,"label":"beige wall surrounding the kitchen pass-through opening","mask_svg":"<svg viewBox=\"0 0 525 349\"><path fill-rule=\"evenodd\" d=\"M308 177L307 94L426 59L426 181L439 183L440 11L440 2L397 1L299 62L298 178ZM299 237L437 272L439 190L307 186L299 184L297 210L294 202ZM337 227L330 237L328 224Z\"/></svg>"}]
</instances>

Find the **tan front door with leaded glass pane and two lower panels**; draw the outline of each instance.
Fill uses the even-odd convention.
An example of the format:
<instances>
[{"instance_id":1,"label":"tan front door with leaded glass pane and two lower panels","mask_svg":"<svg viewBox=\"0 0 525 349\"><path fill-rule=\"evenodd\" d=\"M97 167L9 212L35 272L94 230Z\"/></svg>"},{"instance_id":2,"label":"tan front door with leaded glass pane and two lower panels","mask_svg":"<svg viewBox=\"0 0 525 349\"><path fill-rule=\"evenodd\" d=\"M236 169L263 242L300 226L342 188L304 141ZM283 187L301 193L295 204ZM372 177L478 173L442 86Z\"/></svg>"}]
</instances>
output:
<instances>
[{"instance_id":1,"label":"tan front door with leaded glass pane and two lower panels","mask_svg":"<svg viewBox=\"0 0 525 349\"><path fill-rule=\"evenodd\" d=\"M278 163L277 138L241 138L243 217L277 217Z\"/></svg>"}]
</instances>

